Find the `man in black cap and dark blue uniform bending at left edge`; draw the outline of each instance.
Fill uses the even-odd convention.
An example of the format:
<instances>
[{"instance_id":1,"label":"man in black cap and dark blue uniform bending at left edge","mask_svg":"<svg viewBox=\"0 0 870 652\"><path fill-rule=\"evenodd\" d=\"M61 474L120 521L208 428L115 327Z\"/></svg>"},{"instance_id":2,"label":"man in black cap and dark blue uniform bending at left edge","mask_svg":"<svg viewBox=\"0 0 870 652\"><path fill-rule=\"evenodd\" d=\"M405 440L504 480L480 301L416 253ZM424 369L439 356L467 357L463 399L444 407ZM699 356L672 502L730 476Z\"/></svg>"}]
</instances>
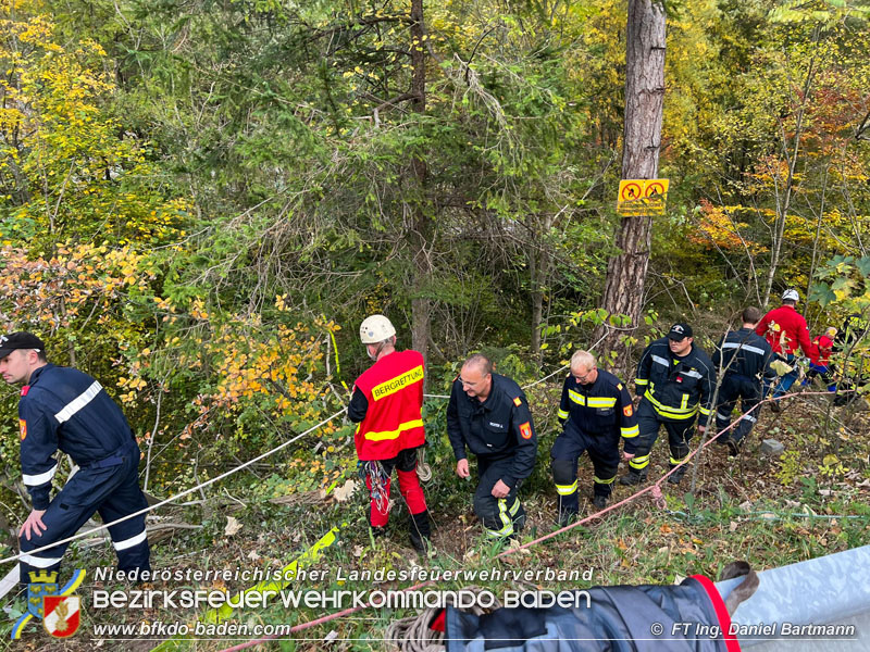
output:
<instances>
[{"instance_id":1,"label":"man in black cap and dark blue uniform bending at left edge","mask_svg":"<svg viewBox=\"0 0 870 652\"><path fill-rule=\"evenodd\" d=\"M110 523L148 503L139 489L139 447L121 409L97 380L49 364L41 340L29 333L0 337L0 375L10 385L23 384L21 465L33 501L18 531L21 580L26 584L32 572L57 570L67 543L30 551L75 535L95 512ZM77 471L50 500L59 449ZM144 514L111 526L109 534L121 570L150 570Z\"/></svg>"}]
</instances>

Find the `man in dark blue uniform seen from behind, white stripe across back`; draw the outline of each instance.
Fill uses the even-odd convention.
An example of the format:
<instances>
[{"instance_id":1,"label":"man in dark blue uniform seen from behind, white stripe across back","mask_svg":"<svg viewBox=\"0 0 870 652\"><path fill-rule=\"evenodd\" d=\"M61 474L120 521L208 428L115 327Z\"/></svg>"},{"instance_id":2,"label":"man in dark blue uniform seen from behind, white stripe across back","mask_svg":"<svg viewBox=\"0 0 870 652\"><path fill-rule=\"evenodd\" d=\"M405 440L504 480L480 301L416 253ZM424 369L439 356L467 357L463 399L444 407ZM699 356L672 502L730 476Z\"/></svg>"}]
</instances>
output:
<instances>
[{"instance_id":1,"label":"man in dark blue uniform seen from behind, white stripe across back","mask_svg":"<svg viewBox=\"0 0 870 652\"><path fill-rule=\"evenodd\" d=\"M770 386L776 378L776 372L770 367L773 350L768 340L755 333L755 327L761 321L761 311L749 306L742 316L743 327L726 333L713 352L713 365L724 374L716 408L717 431L721 432L731 425L731 413L737 399L743 413L739 423L716 440L721 446L728 446L732 455L739 452L749 430L758 422L758 410L746 413L761 400L762 381Z\"/></svg>"}]
</instances>

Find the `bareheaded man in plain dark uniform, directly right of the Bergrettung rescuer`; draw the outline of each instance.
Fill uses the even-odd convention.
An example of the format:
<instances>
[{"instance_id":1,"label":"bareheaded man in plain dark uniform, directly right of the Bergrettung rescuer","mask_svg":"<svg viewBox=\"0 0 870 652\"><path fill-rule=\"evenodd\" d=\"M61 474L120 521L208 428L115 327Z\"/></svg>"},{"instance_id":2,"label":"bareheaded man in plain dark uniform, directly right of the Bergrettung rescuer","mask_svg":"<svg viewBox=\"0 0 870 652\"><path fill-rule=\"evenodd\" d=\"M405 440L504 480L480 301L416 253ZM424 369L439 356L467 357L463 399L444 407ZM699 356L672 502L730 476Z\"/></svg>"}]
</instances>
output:
<instances>
[{"instance_id":1,"label":"bareheaded man in plain dark uniform, directly right of the Bergrettung rescuer","mask_svg":"<svg viewBox=\"0 0 870 652\"><path fill-rule=\"evenodd\" d=\"M532 474L537 454L535 425L523 390L493 373L486 356L472 355L453 380L447 435L460 478L470 477L467 449L477 456L474 513L486 534L497 539L513 537L525 525L517 491Z\"/></svg>"}]
</instances>

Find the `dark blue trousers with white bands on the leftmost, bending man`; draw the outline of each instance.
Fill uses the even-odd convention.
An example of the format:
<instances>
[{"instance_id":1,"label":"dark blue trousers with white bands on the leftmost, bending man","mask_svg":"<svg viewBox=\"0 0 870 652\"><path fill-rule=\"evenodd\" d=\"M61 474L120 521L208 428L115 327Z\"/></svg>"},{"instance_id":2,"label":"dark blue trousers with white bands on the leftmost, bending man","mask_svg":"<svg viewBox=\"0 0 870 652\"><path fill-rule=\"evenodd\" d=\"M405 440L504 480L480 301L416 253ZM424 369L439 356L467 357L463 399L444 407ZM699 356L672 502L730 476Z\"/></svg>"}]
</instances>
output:
<instances>
[{"instance_id":1,"label":"dark blue trousers with white bands on the leftmost, bending man","mask_svg":"<svg viewBox=\"0 0 870 652\"><path fill-rule=\"evenodd\" d=\"M24 536L18 537L23 584L29 581L30 572L57 570L69 543L35 554L29 551L72 537L95 512L100 513L104 523L111 523L148 506L139 488L140 454L133 444L111 459L116 464L80 468L70 478L42 515L46 524L42 535L32 535L29 541ZM109 534L117 553L119 569L150 570L145 514L110 526Z\"/></svg>"}]
</instances>

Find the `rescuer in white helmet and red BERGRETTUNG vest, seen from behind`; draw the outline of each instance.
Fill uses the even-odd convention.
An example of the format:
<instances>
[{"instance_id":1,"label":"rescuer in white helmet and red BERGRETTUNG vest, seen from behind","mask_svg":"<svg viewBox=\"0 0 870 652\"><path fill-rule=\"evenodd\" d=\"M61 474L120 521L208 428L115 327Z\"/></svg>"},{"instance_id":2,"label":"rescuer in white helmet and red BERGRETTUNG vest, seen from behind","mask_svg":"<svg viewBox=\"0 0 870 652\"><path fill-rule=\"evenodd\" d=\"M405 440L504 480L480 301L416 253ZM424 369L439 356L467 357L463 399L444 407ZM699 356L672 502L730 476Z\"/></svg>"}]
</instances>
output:
<instances>
[{"instance_id":1,"label":"rescuer in white helmet and red BERGRETTUNG vest, seen from behind","mask_svg":"<svg viewBox=\"0 0 870 652\"><path fill-rule=\"evenodd\" d=\"M385 531L395 468L411 514L411 544L426 554L430 517L417 475L417 449L426 442L421 414L423 355L410 349L396 351L396 329L384 315L362 322L360 340L374 364L357 378L347 413L359 424L355 443L371 497L369 525L375 537Z\"/></svg>"}]
</instances>

